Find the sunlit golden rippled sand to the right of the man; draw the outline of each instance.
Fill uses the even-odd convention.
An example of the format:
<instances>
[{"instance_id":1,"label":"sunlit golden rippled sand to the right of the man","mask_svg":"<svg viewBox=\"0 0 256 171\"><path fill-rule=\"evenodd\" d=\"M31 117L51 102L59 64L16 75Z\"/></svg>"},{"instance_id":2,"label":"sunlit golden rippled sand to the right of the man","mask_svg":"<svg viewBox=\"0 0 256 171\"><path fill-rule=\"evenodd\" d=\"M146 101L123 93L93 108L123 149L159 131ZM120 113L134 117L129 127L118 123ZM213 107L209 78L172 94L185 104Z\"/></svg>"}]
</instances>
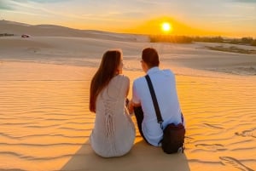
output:
<instances>
[{"instance_id":1,"label":"sunlit golden rippled sand to the right of the man","mask_svg":"<svg viewBox=\"0 0 256 171\"><path fill-rule=\"evenodd\" d=\"M191 170L256 169L255 77L177 77Z\"/></svg>"}]
</instances>

